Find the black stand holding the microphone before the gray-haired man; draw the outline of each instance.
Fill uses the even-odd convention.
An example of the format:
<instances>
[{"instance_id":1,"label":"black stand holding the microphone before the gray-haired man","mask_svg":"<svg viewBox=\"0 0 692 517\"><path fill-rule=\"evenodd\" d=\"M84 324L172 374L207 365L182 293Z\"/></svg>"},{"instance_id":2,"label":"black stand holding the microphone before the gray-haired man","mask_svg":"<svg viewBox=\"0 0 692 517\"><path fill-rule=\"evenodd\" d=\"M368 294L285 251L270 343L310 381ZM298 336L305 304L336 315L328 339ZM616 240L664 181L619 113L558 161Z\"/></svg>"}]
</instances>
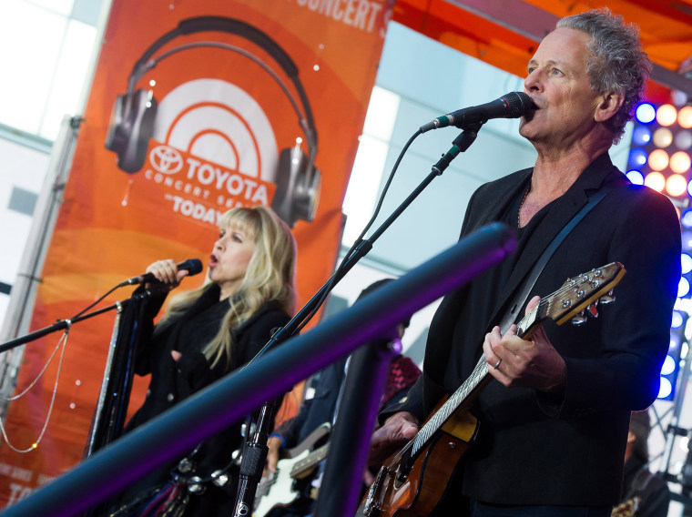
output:
<instances>
[{"instance_id":1,"label":"black stand holding the microphone before the gray-haired man","mask_svg":"<svg viewBox=\"0 0 692 517\"><path fill-rule=\"evenodd\" d=\"M435 177L442 176L444 170L449 167L452 160L457 157L459 153L471 147L476 137L478 137L478 131L481 130L481 127L483 127L483 122L467 124L463 127L462 132L453 139L452 147L432 166L431 172L422 180L420 185L403 200L402 204L392 212L392 215L382 223L380 228L375 230L371 238L361 240L351 256L341 265L341 268L337 269L332 274L330 279L328 279L327 282L322 285L321 289L312 296L308 303L300 309L298 314L290 319L284 327L274 332L271 339L262 347L262 350L260 350L252 360L249 360L243 369L248 368L254 360L257 360L257 358L263 355L267 350L270 350L277 343L288 340L295 334L296 329L298 329L299 325L303 322L303 319L306 319L313 310L320 306L322 300L331 289L333 289L346 273L348 273L353 266L371 250L372 244L382 236L382 233L384 233L387 228L392 226L392 223L402 215L402 212L411 205L413 200L432 183ZM247 517L254 507L257 484L260 482L264 464L267 460L267 452L269 451L267 441L269 440L271 417L276 410L279 400L280 399L265 402L262 405L260 416L256 423L256 432L246 441L245 447L243 448L242 459L240 461L238 495L236 497L233 517Z\"/></svg>"}]
</instances>

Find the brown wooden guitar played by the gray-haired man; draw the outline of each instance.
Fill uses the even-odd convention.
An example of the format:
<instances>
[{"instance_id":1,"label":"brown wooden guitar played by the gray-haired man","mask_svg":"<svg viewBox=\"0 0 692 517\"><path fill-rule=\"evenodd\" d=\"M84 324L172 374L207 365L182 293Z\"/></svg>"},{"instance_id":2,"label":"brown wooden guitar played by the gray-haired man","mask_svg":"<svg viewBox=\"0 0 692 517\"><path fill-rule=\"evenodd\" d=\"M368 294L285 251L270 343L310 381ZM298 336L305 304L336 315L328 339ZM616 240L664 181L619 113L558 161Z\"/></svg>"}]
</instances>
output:
<instances>
[{"instance_id":1,"label":"brown wooden guitar played by the gray-haired man","mask_svg":"<svg viewBox=\"0 0 692 517\"><path fill-rule=\"evenodd\" d=\"M568 319L584 323L585 309L597 316L595 304L599 299L601 303L614 300L609 291L623 275L625 268L614 262L567 279L517 324L517 335L527 339L547 319L554 319L557 325ZM438 403L412 440L384 462L357 516L425 517L432 512L478 429L468 408L492 379L481 357L471 376Z\"/></svg>"}]
</instances>

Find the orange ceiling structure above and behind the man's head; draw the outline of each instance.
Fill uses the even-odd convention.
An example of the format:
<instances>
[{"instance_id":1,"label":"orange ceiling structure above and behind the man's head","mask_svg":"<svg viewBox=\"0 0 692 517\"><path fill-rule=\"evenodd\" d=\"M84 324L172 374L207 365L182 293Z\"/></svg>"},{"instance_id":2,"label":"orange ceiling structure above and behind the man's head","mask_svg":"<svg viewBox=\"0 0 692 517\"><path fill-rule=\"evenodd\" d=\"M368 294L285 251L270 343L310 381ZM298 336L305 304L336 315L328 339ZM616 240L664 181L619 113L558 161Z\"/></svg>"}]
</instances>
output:
<instances>
[{"instance_id":1,"label":"orange ceiling structure above and behind the man's head","mask_svg":"<svg viewBox=\"0 0 692 517\"><path fill-rule=\"evenodd\" d=\"M396 0L394 21L464 54L524 76L526 64L565 15L609 7L640 27L654 62L646 98L669 102L670 91L692 98L692 0Z\"/></svg>"}]
</instances>

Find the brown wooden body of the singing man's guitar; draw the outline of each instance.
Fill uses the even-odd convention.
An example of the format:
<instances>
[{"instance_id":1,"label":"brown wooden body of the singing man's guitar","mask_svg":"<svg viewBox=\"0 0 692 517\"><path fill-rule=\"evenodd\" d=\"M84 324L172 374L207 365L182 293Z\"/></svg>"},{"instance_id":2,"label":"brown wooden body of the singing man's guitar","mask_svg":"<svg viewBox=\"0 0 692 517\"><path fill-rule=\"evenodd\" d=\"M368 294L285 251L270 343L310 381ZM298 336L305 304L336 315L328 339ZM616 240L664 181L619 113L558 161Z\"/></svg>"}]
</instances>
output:
<instances>
[{"instance_id":1,"label":"brown wooden body of the singing man's guitar","mask_svg":"<svg viewBox=\"0 0 692 517\"><path fill-rule=\"evenodd\" d=\"M442 405L442 402L441 404ZM385 461L356 516L426 517L442 500L450 478L478 431L478 421L459 411L413 461L408 447Z\"/></svg>"}]
</instances>

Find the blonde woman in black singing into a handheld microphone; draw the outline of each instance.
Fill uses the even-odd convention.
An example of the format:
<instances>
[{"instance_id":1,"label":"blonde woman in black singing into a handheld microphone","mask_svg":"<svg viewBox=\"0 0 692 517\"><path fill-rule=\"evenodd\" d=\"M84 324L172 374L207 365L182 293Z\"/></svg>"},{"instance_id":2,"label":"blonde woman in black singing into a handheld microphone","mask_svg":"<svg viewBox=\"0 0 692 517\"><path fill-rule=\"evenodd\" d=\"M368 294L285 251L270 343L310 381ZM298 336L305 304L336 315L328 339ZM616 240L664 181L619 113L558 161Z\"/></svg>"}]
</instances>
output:
<instances>
[{"instance_id":1,"label":"blonde woman in black singing into a handheld microphone","mask_svg":"<svg viewBox=\"0 0 692 517\"><path fill-rule=\"evenodd\" d=\"M288 226L270 208L256 207L229 210L219 228L205 284L170 299L156 326L165 296L149 303L143 331L150 337L138 351L136 372L151 373L151 380L126 432L248 362L294 311L296 248ZM187 275L172 259L147 271L171 289ZM240 425L231 426L128 487L107 514L232 515L237 466L231 454L241 446Z\"/></svg>"}]
</instances>

